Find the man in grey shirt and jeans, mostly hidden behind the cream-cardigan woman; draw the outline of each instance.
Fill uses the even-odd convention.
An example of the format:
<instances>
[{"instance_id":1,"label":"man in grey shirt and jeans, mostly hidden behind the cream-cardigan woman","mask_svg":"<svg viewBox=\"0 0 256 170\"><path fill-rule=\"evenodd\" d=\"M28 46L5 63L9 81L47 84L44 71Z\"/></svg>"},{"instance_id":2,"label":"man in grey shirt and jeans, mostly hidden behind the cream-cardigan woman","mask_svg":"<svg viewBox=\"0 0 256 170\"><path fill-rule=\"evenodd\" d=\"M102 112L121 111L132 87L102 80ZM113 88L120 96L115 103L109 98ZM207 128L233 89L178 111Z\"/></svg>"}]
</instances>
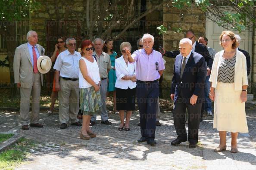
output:
<instances>
[{"instance_id":1,"label":"man in grey shirt and jeans, mostly hidden behind the cream-cardigan woman","mask_svg":"<svg viewBox=\"0 0 256 170\"><path fill-rule=\"evenodd\" d=\"M207 47L208 39L206 37L200 36L198 39L198 43L203 44ZM209 54L212 58L212 61L214 59L214 56L216 54L215 50L211 47L207 47L207 50L209 51ZM207 115L212 115L212 101L209 98L209 90L210 90L210 82L209 82L209 76L206 76L205 80L205 88L204 88L204 95L205 95L205 103L204 103L204 110L207 112ZM202 108L203 109L203 108Z\"/></svg>"}]
</instances>

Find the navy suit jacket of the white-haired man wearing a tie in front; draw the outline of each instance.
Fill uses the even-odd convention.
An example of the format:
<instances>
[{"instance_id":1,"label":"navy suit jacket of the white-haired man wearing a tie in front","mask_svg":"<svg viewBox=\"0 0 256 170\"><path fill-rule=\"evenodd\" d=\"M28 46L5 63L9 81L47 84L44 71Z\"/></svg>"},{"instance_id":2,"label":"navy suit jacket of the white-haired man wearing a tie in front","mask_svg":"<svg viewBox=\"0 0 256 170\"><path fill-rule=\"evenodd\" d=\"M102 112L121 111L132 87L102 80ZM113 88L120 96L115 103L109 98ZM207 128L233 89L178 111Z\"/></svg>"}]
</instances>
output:
<instances>
[{"instance_id":1,"label":"navy suit jacket of the white-haired man wearing a tie in front","mask_svg":"<svg viewBox=\"0 0 256 170\"><path fill-rule=\"evenodd\" d=\"M188 58L183 75L181 74L182 55L175 58L173 67L171 94L175 94L174 102L182 94L186 103L190 103L190 97L197 95L197 103L204 100L204 82L206 79L206 63L202 55L192 52Z\"/></svg>"}]
</instances>

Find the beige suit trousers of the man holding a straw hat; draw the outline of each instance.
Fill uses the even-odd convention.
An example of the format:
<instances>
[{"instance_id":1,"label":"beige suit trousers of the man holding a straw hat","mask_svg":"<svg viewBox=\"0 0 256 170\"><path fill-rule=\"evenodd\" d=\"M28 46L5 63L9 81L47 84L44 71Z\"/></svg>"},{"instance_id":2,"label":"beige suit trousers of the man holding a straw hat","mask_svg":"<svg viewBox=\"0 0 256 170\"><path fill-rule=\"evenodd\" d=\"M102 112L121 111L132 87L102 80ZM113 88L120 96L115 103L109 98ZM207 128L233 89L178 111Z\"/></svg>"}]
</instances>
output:
<instances>
[{"instance_id":1,"label":"beige suit trousers of the man holding a straw hat","mask_svg":"<svg viewBox=\"0 0 256 170\"><path fill-rule=\"evenodd\" d=\"M41 76L40 73L33 74L33 86L31 88L20 88L20 122L22 126L29 123L29 105L32 91L32 114L30 124L38 123L40 110Z\"/></svg>"}]
</instances>

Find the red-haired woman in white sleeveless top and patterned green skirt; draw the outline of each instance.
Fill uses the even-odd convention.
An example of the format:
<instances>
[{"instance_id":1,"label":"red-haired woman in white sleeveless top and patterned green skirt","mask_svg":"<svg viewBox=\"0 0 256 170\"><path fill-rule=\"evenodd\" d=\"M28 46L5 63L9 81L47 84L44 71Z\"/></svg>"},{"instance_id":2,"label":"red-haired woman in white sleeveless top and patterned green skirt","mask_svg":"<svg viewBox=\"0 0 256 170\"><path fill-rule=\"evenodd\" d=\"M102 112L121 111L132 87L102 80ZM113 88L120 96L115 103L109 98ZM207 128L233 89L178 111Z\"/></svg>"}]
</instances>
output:
<instances>
[{"instance_id":1,"label":"red-haired woman in white sleeveless top and patterned green skirt","mask_svg":"<svg viewBox=\"0 0 256 170\"><path fill-rule=\"evenodd\" d=\"M80 109L83 111L83 126L80 138L89 140L96 137L90 130L91 116L100 110L100 71L93 57L93 44L90 40L81 43L82 57L79 60Z\"/></svg>"}]
</instances>

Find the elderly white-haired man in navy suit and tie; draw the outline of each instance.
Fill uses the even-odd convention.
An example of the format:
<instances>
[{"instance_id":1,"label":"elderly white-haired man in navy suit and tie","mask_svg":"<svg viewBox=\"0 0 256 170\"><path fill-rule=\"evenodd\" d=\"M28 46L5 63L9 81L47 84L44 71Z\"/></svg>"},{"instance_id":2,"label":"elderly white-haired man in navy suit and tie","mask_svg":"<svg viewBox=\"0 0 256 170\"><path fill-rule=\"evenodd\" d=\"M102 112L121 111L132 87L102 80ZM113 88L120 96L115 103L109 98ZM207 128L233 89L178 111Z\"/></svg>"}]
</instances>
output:
<instances>
[{"instance_id":1,"label":"elderly white-haired man in navy suit and tie","mask_svg":"<svg viewBox=\"0 0 256 170\"><path fill-rule=\"evenodd\" d=\"M178 135L172 145L189 141L189 148L195 148L198 142L198 128L202 100L204 99L204 82L206 79L206 62L202 55L192 50L192 41L181 39L180 54L175 58L171 99L174 101L174 126ZM188 137L185 128L185 112L188 111Z\"/></svg>"}]
</instances>

